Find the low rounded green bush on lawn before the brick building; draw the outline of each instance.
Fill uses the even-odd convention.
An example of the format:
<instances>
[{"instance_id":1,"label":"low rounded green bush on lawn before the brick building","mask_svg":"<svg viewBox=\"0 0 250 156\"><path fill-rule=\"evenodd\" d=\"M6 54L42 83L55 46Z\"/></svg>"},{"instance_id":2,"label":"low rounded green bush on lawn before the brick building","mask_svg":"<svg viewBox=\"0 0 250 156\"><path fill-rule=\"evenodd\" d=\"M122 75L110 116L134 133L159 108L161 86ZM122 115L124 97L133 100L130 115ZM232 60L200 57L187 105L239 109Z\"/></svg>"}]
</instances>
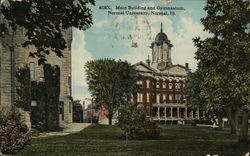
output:
<instances>
[{"instance_id":1,"label":"low rounded green bush on lawn before the brick building","mask_svg":"<svg viewBox=\"0 0 250 156\"><path fill-rule=\"evenodd\" d=\"M160 136L160 128L134 104L127 104L119 110L118 126L128 139L152 139Z\"/></svg>"}]
</instances>

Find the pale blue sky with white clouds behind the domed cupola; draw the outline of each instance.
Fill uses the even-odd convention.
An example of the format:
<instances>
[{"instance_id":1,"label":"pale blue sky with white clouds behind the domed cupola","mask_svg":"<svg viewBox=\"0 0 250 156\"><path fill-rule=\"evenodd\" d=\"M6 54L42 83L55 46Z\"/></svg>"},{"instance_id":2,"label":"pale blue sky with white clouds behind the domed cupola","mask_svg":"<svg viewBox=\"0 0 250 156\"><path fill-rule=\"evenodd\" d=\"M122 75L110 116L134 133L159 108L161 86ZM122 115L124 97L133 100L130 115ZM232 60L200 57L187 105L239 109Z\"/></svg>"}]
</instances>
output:
<instances>
[{"instance_id":1,"label":"pale blue sky with white clouds behind the domed cupola","mask_svg":"<svg viewBox=\"0 0 250 156\"><path fill-rule=\"evenodd\" d=\"M85 31L73 29L73 98L82 101L91 98L84 69L87 61L115 58L134 64L145 61L148 56L151 59L152 51L149 46L160 32L161 23L163 32L173 44L171 51L173 64L189 63L190 69L195 71L196 48L192 38L208 36L200 22L200 19L206 16L203 10L205 4L205 0L170 0L170 2L169 0L96 0L95 6L89 5L93 15L92 27ZM107 5L110 6L110 10L99 9L100 6ZM183 7L184 10L174 10L175 15L108 15L108 11L122 11L117 10L116 6ZM169 10L155 11L169 12ZM146 10L146 12L151 11Z\"/></svg>"}]
</instances>

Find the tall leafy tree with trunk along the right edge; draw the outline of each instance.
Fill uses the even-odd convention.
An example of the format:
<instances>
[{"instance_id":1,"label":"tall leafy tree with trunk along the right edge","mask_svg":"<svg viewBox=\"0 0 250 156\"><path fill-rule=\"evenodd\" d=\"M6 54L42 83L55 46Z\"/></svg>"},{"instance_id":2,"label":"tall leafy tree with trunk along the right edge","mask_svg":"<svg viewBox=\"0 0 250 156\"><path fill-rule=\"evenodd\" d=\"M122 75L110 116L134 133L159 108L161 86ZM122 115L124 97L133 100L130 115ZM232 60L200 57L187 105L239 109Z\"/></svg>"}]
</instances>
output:
<instances>
[{"instance_id":1,"label":"tall leafy tree with trunk along the right edge","mask_svg":"<svg viewBox=\"0 0 250 156\"><path fill-rule=\"evenodd\" d=\"M241 110L239 142L248 141L250 103L250 2L242 0L209 0L201 19L204 30L213 34L205 40L194 39L196 59L204 79L201 94L211 106L230 112ZM228 113L231 115L232 113ZM234 118L229 116L230 122Z\"/></svg>"}]
</instances>

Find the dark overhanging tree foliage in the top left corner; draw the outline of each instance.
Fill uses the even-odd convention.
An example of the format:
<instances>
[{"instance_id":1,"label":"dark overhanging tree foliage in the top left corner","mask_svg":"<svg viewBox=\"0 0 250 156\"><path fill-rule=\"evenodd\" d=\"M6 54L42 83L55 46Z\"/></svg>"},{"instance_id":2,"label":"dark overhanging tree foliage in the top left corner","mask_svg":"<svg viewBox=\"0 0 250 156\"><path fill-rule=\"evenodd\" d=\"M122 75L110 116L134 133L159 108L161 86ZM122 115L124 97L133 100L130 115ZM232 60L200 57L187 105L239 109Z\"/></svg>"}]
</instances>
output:
<instances>
[{"instance_id":1,"label":"dark overhanging tree foliage in the top left corner","mask_svg":"<svg viewBox=\"0 0 250 156\"><path fill-rule=\"evenodd\" d=\"M38 57L40 64L51 52L63 57L62 50L67 47L63 33L71 27L85 30L92 24L89 3L94 5L94 0L60 0L60 3L54 0L5 0L0 5L0 36L23 27L27 37L23 47L34 45L37 50L30 52L30 56Z\"/></svg>"}]
</instances>

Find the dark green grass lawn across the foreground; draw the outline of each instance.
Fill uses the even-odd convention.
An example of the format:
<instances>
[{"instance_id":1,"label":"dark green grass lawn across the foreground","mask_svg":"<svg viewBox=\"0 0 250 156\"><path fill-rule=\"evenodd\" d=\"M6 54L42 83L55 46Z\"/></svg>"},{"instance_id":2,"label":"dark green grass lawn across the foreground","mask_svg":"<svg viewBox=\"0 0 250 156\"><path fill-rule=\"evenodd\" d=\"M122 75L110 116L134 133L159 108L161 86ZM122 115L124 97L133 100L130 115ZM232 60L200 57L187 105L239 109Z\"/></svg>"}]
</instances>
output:
<instances>
[{"instance_id":1,"label":"dark green grass lawn across the foreground","mask_svg":"<svg viewBox=\"0 0 250 156\"><path fill-rule=\"evenodd\" d=\"M242 156L247 146L237 145L237 137L228 131L184 125L162 126L159 140L119 139L116 126L92 125L80 133L32 139L17 155L22 156Z\"/></svg>"}]
</instances>

